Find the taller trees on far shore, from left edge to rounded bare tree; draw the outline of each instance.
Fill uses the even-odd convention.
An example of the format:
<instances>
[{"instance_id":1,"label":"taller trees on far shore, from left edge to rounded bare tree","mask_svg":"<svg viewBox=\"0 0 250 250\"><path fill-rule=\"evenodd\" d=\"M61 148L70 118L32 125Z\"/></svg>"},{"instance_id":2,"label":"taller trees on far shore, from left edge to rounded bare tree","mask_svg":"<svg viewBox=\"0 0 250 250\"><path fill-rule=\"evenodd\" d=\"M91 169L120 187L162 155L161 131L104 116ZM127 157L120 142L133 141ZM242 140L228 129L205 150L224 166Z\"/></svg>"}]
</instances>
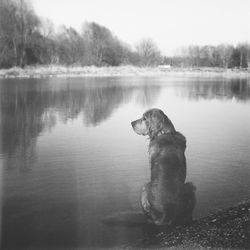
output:
<instances>
[{"instance_id":1,"label":"taller trees on far shore, from left edge to rounded bare tree","mask_svg":"<svg viewBox=\"0 0 250 250\"><path fill-rule=\"evenodd\" d=\"M0 0L0 67L34 64L117 66L157 65L162 55L151 39L135 50L109 29L85 22L81 32L39 18L26 0Z\"/></svg>"}]
</instances>

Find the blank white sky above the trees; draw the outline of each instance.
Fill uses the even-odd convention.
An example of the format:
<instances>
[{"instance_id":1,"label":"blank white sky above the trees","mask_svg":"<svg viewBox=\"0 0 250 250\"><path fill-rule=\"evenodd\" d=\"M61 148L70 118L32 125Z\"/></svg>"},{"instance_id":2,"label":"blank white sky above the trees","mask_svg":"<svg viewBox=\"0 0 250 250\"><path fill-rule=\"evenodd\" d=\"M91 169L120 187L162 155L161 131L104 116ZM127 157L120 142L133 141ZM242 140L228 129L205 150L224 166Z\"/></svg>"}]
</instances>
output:
<instances>
[{"instance_id":1,"label":"blank white sky above the trees","mask_svg":"<svg viewBox=\"0 0 250 250\"><path fill-rule=\"evenodd\" d=\"M250 0L30 0L39 16L80 31L85 21L135 45L151 37L165 54L185 45L250 42Z\"/></svg>"}]
</instances>

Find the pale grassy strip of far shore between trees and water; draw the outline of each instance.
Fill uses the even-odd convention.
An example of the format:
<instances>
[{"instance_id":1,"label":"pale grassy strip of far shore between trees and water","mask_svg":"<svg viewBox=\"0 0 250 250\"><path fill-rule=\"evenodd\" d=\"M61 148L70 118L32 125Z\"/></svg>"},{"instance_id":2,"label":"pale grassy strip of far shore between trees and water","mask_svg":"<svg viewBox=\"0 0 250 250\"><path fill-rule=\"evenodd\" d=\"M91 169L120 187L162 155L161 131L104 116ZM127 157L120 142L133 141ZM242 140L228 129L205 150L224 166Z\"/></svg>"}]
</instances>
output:
<instances>
[{"instance_id":1,"label":"pale grassy strip of far shore between trees and water","mask_svg":"<svg viewBox=\"0 0 250 250\"><path fill-rule=\"evenodd\" d=\"M96 66L29 66L0 69L3 78L48 78L48 77L109 77L109 76L185 76L185 77L223 77L249 78L250 69L224 68L166 68L166 67L96 67Z\"/></svg>"}]
</instances>

